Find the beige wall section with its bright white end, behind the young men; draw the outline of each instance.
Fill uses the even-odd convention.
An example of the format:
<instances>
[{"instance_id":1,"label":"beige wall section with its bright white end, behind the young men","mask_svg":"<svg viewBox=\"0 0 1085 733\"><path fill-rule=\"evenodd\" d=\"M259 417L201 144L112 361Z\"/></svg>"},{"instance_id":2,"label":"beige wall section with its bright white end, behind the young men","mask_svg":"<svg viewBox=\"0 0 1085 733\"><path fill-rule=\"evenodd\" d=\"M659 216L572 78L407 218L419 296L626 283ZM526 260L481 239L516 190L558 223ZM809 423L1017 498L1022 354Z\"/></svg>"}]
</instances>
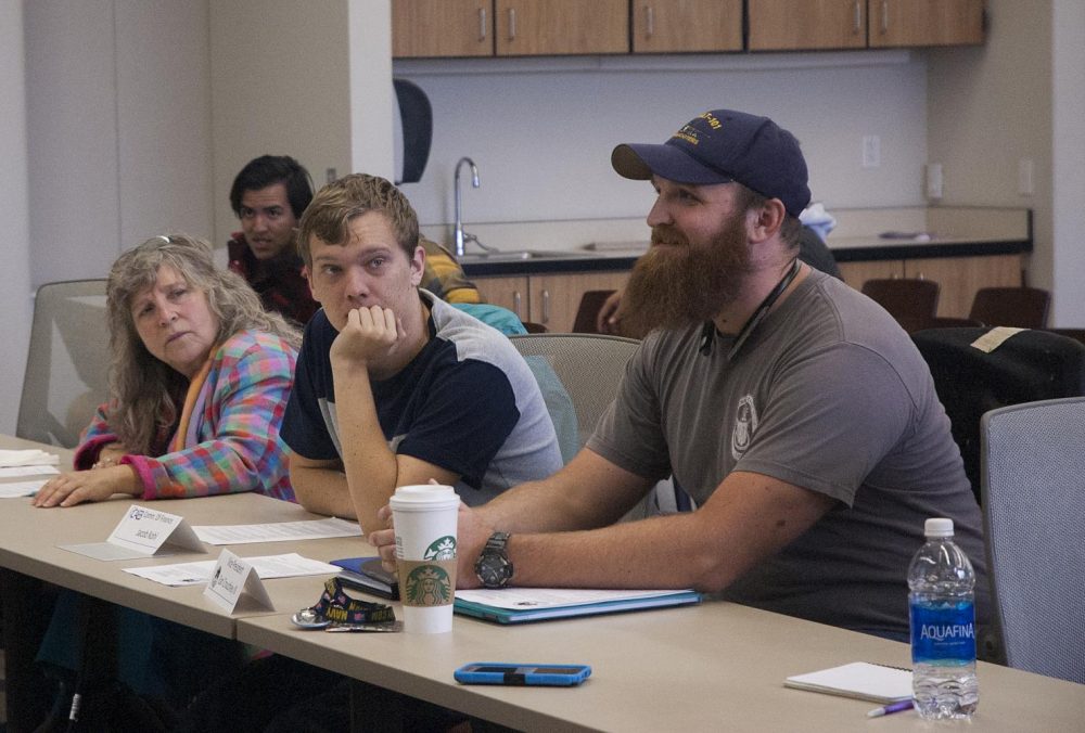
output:
<instances>
[{"instance_id":1,"label":"beige wall section with its bright white end, behind the young men","mask_svg":"<svg viewBox=\"0 0 1085 733\"><path fill-rule=\"evenodd\" d=\"M391 177L390 0L210 3L215 240L238 229L230 187L254 157Z\"/></svg>"}]
</instances>

